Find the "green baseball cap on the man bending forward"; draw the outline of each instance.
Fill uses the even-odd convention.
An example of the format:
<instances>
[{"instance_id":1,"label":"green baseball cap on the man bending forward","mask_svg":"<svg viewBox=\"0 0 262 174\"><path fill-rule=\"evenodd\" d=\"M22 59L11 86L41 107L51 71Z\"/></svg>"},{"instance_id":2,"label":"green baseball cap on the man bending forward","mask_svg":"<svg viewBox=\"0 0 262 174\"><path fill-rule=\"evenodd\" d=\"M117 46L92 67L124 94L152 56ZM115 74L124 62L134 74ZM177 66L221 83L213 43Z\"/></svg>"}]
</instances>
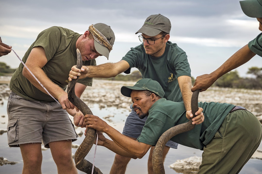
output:
<instances>
[{"instance_id":1,"label":"green baseball cap on the man bending forward","mask_svg":"<svg viewBox=\"0 0 262 174\"><path fill-rule=\"evenodd\" d=\"M165 92L159 82L152 79L141 79L134 86L122 86L121 93L126 97L131 97L130 94L132 90L143 91L148 90L159 97L163 98Z\"/></svg>"}]
</instances>

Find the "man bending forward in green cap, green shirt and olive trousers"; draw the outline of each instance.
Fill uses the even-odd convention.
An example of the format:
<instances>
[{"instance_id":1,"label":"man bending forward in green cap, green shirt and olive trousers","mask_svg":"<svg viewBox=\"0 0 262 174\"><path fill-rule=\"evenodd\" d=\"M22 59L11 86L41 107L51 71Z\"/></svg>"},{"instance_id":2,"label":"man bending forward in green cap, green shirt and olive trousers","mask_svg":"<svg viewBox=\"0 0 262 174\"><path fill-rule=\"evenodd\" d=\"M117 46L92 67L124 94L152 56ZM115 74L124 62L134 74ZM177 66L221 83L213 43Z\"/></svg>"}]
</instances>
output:
<instances>
[{"instance_id":1,"label":"man bending forward in green cap, green shirt and olive trousers","mask_svg":"<svg viewBox=\"0 0 262 174\"><path fill-rule=\"evenodd\" d=\"M98 132L98 145L119 155L142 158L166 130L188 122L184 104L163 98L165 93L157 81L141 79L134 86L123 86L121 93L131 97L134 111L141 119L148 116L137 140L122 135L97 116L85 115L88 128L104 132L113 140ZM203 150L198 173L239 173L261 142L260 122L241 106L215 102L199 102L198 106L203 108L205 121L196 116L193 130L171 140Z\"/></svg>"}]
</instances>

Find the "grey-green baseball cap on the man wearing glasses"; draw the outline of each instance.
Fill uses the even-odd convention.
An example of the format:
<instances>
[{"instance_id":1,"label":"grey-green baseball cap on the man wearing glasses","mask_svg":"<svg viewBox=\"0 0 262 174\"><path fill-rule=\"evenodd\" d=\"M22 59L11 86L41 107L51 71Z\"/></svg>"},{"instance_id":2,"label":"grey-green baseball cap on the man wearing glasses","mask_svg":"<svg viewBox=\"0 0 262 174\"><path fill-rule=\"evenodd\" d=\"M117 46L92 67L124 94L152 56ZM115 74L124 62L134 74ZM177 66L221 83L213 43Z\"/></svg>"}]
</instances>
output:
<instances>
[{"instance_id":1,"label":"grey-green baseball cap on the man wearing glasses","mask_svg":"<svg viewBox=\"0 0 262 174\"><path fill-rule=\"evenodd\" d=\"M144 25L135 33L144 33L148 36L156 36L161 31L170 33L171 22L170 20L161 15L150 15L146 18Z\"/></svg>"}]
</instances>

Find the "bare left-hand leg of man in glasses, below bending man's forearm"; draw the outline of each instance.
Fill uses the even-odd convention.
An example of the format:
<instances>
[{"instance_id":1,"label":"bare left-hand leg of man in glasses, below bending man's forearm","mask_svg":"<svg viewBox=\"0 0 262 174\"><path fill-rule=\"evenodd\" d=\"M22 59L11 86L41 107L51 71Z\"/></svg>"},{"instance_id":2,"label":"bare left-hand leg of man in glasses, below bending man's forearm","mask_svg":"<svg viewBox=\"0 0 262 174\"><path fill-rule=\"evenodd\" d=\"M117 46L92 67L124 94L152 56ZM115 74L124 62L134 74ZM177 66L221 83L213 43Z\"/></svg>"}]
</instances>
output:
<instances>
[{"instance_id":1,"label":"bare left-hand leg of man in glasses, below bending man's forearm","mask_svg":"<svg viewBox=\"0 0 262 174\"><path fill-rule=\"evenodd\" d=\"M129 138L136 140L135 138L132 137ZM110 174L124 174L130 159L131 158L123 157L121 155L116 154L113 165L110 170Z\"/></svg>"}]
</instances>

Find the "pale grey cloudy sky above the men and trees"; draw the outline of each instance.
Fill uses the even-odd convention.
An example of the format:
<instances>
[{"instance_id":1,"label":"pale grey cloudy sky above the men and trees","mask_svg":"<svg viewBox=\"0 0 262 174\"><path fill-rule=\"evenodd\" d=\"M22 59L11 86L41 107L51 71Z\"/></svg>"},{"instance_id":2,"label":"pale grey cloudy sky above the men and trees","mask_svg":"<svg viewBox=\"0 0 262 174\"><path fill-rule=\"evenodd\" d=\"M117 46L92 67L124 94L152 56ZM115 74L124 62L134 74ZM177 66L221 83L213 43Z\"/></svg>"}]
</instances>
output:
<instances>
[{"instance_id":1,"label":"pale grey cloudy sky above the men and trees","mask_svg":"<svg viewBox=\"0 0 262 174\"><path fill-rule=\"evenodd\" d=\"M109 62L118 62L130 47L140 44L135 32L149 15L162 14L171 21L170 41L188 55L193 77L211 73L261 32L258 21L242 12L238 0L0 0L0 7L2 41L21 58L46 28L61 26L83 34L89 25L102 22L116 35ZM103 56L96 61L108 62ZM0 62L11 68L20 63L13 52ZM246 76L248 68L261 65L261 57L255 56L237 71Z\"/></svg>"}]
</instances>

